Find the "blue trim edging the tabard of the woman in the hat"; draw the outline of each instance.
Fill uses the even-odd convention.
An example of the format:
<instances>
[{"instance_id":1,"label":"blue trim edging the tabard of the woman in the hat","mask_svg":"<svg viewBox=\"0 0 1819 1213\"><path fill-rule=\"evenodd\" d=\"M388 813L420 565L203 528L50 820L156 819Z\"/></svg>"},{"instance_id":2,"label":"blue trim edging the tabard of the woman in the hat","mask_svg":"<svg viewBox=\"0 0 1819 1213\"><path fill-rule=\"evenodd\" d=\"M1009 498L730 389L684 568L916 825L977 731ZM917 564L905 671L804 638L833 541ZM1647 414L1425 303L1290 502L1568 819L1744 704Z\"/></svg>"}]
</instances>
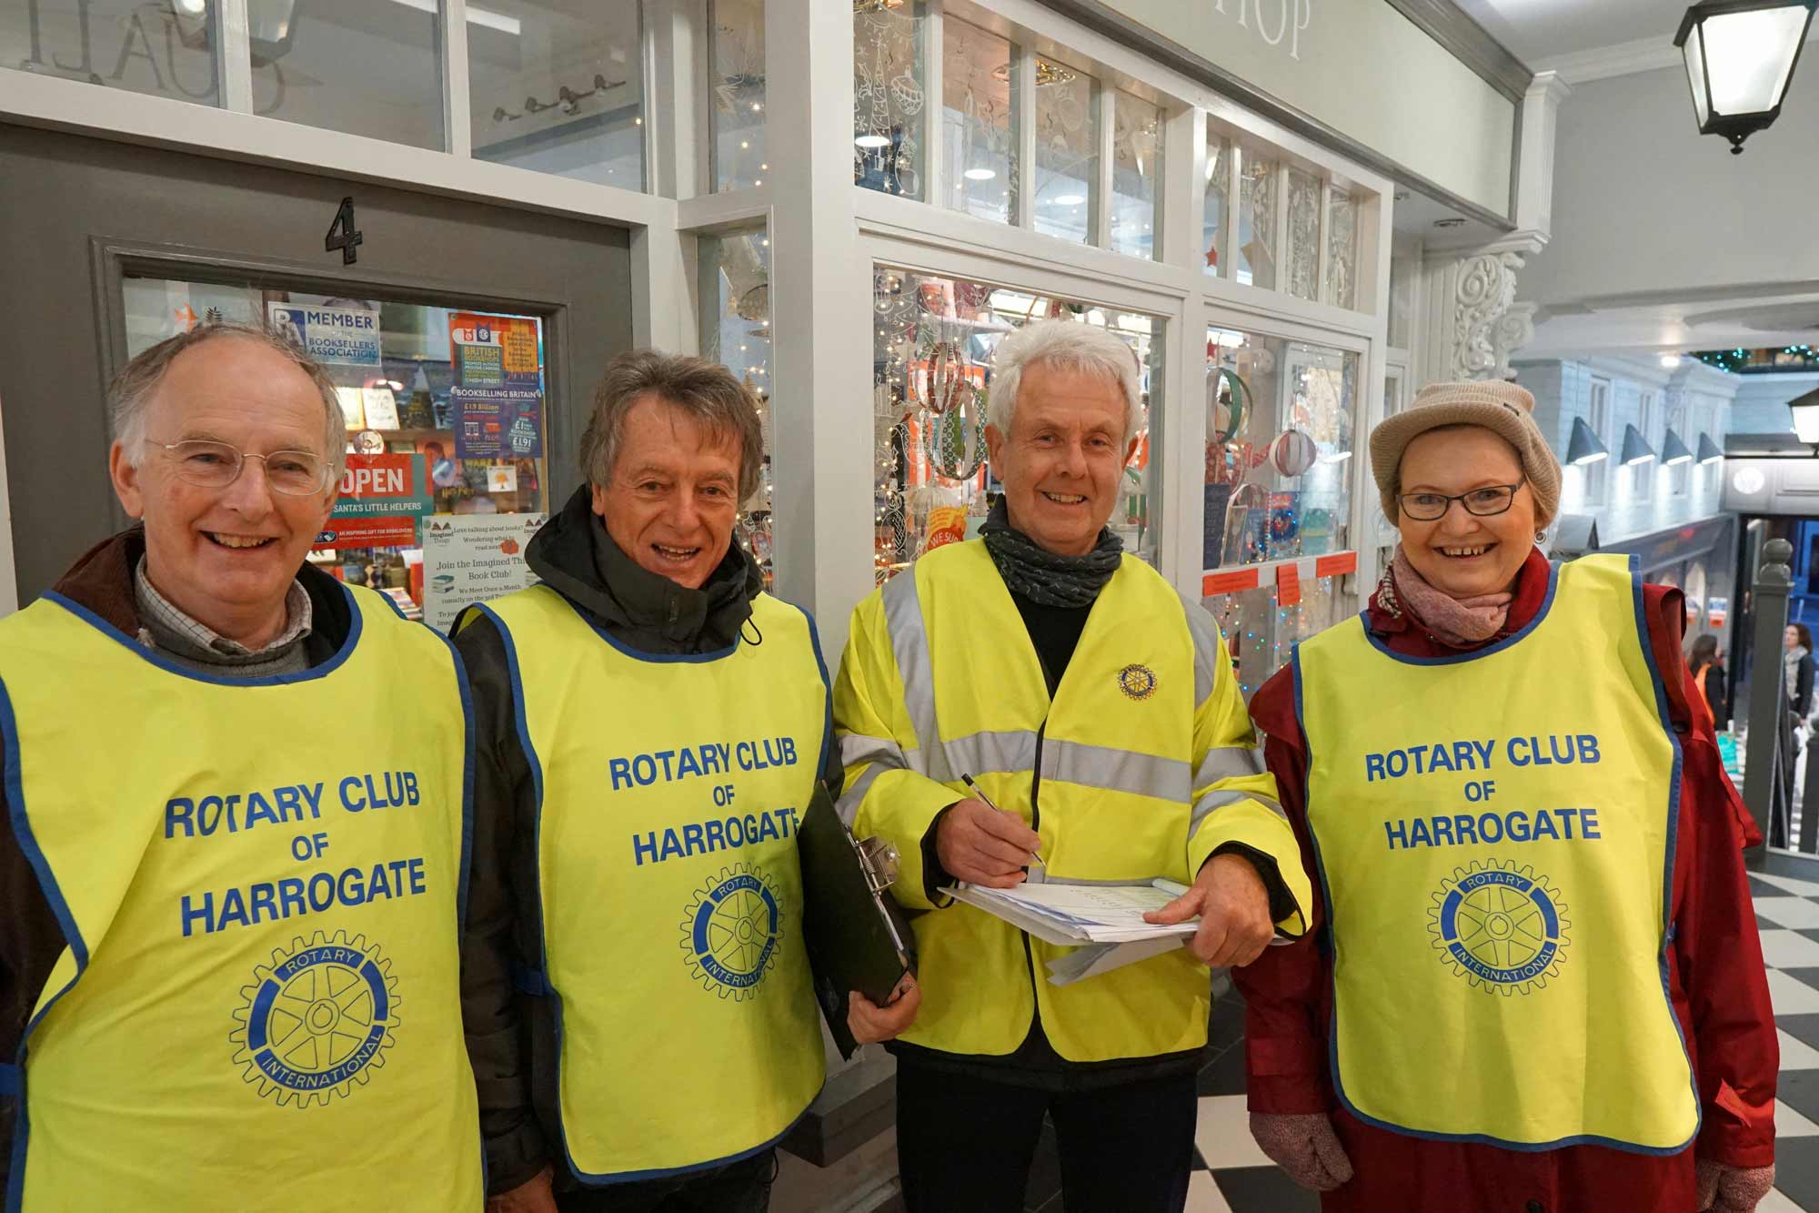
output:
<instances>
[{"instance_id":1,"label":"blue trim edging the tabard of the woman in the hat","mask_svg":"<svg viewBox=\"0 0 1819 1213\"><path fill-rule=\"evenodd\" d=\"M1633 596L1635 596L1637 639L1643 645L1643 656L1648 661L1648 670L1650 670L1650 674L1653 676L1653 681L1655 681L1655 707L1661 712L1663 729L1668 734L1668 741L1673 745L1673 772L1672 772L1673 778L1670 780L1670 790L1668 790L1668 847L1666 847L1666 852L1668 852L1668 861L1666 861L1666 869L1668 869L1668 872L1666 872L1666 894L1668 894L1668 898L1672 898L1672 892L1673 892L1673 841L1675 841L1675 831L1679 829L1679 807L1681 807L1681 741L1675 736L1673 725L1672 725L1672 721L1668 718L1668 701L1666 701L1666 694L1663 690L1661 672L1655 668L1653 648L1648 643L1648 621L1646 621L1646 617L1643 614L1643 577L1637 572L1639 563L1641 563L1641 557L1630 556L1630 577L1632 577L1632 583L1633 583ZM1553 606L1553 596L1559 590L1559 585L1561 585L1559 566L1553 566L1553 568L1548 570L1548 596L1543 599L1541 610L1535 612L1533 619L1530 619L1521 630L1506 636L1504 639L1497 641L1495 645L1490 645L1488 648L1481 648L1481 650L1468 652L1468 654L1459 654L1455 657L1412 657L1412 656L1406 656L1406 654L1392 652L1382 641L1377 639L1377 636L1372 634L1366 612L1359 612L1357 621L1359 621L1359 627L1364 630L1364 637L1372 643L1373 648L1377 648L1386 657L1393 657L1397 661L1402 661L1404 665L1455 665L1459 661L1472 661L1475 657L1482 657L1482 656L1488 656L1492 652L1508 648L1515 641L1519 641L1524 636L1528 636L1530 632L1533 632L1535 625L1539 625L1546 617L1548 608ZM1344 627L1344 625L1339 625L1339 627ZM1666 1157L1666 1155L1683 1153L1688 1146L1692 1146L1693 1140L1697 1140L1697 1137L1699 1137L1699 1124L1703 1124L1703 1120L1704 1120L1704 1109L1699 1106L1699 1087L1697 1087L1699 1078L1697 1078L1697 1073L1693 1071L1693 1065L1692 1065L1690 1058L1688 1058L1686 1069L1690 1073L1693 1073L1693 1109L1695 1109L1697 1120L1693 1124L1693 1135L1688 1137L1679 1146L1637 1146L1635 1142L1619 1142L1615 1138L1597 1137L1593 1133L1583 1133L1579 1137L1563 1137L1563 1138L1553 1140L1553 1142L1508 1142L1508 1140L1504 1140L1501 1137L1492 1137L1488 1133L1433 1133L1433 1131L1428 1131L1428 1129L1410 1129L1408 1126L1390 1124L1388 1120L1379 1120L1377 1116L1370 1116L1370 1115L1359 1111L1357 1104L1352 1102L1352 1096L1346 1095L1344 1082L1339 1076L1339 945L1337 945L1337 940L1335 940L1333 931L1332 931L1332 925L1333 925L1333 891L1332 891L1332 885L1326 880L1326 860L1321 858L1321 838L1319 838L1319 832L1313 829L1313 739L1308 734L1308 716L1306 716L1306 710L1302 707L1301 641L1295 641L1295 648L1293 648L1293 654L1290 657L1290 663L1293 665L1293 670L1295 670L1295 723L1301 727L1301 738L1302 738L1304 747L1306 747L1304 749L1304 752L1306 752L1306 763L1304 763L1302 772L1301 772L1301 776L1302 776L1302 789L1306 789L1306 803L1302 805L1302 816L1306 818L1306 823L1308 823L1308 841L1313 845L1313 867L1319 871L1319 876L1321 876L1321 898L1322 898L1324 909L1326 909L1326 938L1328 938L1328 943L1330 943L1330 947L1328 947L1328 951L1330 951L1330 962L1326 965L1326 994L1328 994L1328 1005L1332 1005L1333 1011L1332 1011L1332 1018L1330 1018L1330 1022L1326 1025L1326 1073L1333 1080L1333 1095L1339 1098L1341 1107L1344 1107L1350 1115L1353 1115L1361 1122L1364 1122L1364 1124L1368 1124L1368 1126L1372 1126L1375 1129L1382 1129L1386 1133L1395 1133L1399 1137L1413 1137L1413 1138L1419 1138L1419 1140L1424 1140L1424 1142L1461 1142L1461 1144L1470 1144L1470 1146L1495 1146L1499 1149L1512 1149L1512 1151L1517 1151L1517 1153L1543 1153L1543 1151L1548 1151L1548 1149L1564 1149L1568 1146L1604 1146L1606 1149L1617 1149L1617 1151L1623 1151L1626 1155ZM1668 907L1670 905L1672 905L1672 900L1663 900L1663 918L1668 916ZM1666 934L1668 934L1668 938L1664 938L1663 945L1661 945L1661 991L1663 991L1663 994L1668 993L1668 953L1666 953L1666 949L1668 949L1668 943L1670 943L1670 938L1672 938L1672 929ZM1686 1035L1681 1031L1681 1016L1673 1014L1673 998L1672 998L1672 994L1668 996L1668 1016L1673 1020L1673 1031L1679 1033L1679 1036L1681 1036L1681 1051L1684 1053L1686 1051Z\"/></svg>"}]
</instances>

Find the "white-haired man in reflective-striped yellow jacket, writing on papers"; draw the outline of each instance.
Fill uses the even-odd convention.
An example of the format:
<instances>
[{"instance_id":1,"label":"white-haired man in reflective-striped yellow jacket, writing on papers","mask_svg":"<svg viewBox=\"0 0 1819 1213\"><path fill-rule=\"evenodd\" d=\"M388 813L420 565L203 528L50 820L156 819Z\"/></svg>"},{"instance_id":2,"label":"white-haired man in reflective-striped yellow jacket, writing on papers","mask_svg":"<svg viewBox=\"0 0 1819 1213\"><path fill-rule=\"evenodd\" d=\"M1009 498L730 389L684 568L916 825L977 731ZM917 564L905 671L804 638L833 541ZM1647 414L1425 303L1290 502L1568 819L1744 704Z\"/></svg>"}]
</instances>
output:
<instances>
[{"instance_id":1,"label":"white-haired man in reflective-striped yellow jacket, writing on papers","mask_svg":"<svg viewBox=\"0 0 1819 1213\"><path fill-rule=\"evenodd\" d=\"M899 1044L910 1213L1022 1208L1048 1116L1062 1202L1186 1200L1208 965L1306 929L1308 878L1219 628L1106 519L1141 430L1137 359L1044 321L993 359L986 443L1004 497L982 537L859 605L835 685L842 816L904 858L922 1020ZM1164 878L1188 947L1071 985L1051 947L942 891Z\"/></svg>"}]
</instances>

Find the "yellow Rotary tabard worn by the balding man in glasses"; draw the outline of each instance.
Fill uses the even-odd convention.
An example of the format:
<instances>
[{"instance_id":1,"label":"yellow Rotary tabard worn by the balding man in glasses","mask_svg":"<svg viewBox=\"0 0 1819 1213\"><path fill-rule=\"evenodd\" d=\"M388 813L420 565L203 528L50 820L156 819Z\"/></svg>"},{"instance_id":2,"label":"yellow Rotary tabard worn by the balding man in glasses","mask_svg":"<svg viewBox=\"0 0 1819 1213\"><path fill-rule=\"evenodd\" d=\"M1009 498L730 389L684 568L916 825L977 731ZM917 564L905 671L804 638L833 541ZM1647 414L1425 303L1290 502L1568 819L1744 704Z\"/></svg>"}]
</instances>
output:
<instances>
[{"instance_id":1,"label":"yellow Rotary tabard worn by the balding man in glasses","mask_svg":"<svg viewBox=\"0 0 1819 1213\"><path fill-rule=\"evenodd\" d=\"M435 632L347 596L335 657L251 679L56 594L0 623L7 805L67 940L9 1209L484 1204L466 683Z\"/></svg>"}]
</instances>

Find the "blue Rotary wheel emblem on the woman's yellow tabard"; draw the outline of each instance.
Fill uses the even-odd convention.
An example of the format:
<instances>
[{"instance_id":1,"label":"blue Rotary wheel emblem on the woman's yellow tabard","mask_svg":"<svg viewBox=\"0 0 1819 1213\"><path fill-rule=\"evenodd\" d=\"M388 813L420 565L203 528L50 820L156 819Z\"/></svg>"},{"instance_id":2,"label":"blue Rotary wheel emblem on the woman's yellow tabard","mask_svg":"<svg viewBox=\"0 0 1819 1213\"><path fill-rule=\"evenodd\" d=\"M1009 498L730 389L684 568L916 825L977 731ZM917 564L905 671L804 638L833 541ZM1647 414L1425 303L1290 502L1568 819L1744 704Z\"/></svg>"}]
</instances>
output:
<instances>
[{"instance_id":1,"label":"blue Rotary wheel emblem on the woman's yellow tabard","mask_svg":"<svg viewBox=\"0 0 1819 1213\"><path fill-rule=\"evenodd\" d=\"M1501 994L1546 989L1566 960L1566 902L1533 867L1473 861L1441 882L1428 933L1441 960Z\"/></svg>"}]
</instances>

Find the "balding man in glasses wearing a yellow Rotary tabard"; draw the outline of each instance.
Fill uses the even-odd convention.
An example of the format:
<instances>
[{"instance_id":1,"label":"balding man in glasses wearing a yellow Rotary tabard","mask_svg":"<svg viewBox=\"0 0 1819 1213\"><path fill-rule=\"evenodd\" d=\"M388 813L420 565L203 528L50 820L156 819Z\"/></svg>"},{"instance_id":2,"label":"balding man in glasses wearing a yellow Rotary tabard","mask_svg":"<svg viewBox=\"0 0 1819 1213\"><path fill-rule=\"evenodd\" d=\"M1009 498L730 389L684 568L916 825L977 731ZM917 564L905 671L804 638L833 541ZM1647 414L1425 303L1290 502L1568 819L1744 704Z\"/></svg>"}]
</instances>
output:
<instances>
[{"instance_id":1,"label":"balding man in glasses wearing a yellow Rotary tabard","mask_svg":"<svg viewBox=\"0 0 1819 1213\"><path fill-rule=\"evenodd\" d=\"M7 1208L477 1209L467 698L306 563L335 384L209 324L109 397L140 523L0 623Z\"/></svg>"}]
</instances>

